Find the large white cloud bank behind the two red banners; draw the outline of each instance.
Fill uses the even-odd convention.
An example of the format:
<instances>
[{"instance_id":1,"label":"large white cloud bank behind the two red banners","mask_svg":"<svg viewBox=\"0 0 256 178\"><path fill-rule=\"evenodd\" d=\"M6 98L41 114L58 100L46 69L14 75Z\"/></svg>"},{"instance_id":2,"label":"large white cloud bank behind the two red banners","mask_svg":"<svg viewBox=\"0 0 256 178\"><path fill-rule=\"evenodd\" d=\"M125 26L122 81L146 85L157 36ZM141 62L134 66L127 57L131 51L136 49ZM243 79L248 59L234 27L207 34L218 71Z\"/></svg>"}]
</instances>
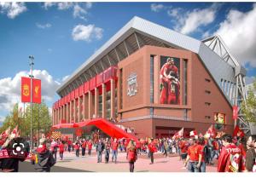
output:
<instances>
[{"instance_id":1,"label":"large white cloud bank behind the two red banners","mask_svg":"<svg viewBox=\"0 0 256 178\"><path fill-rule=\"evenodd\" d=\"M0 111L10 111L15 103L20 102L21 77L27 77L28 72L18 72L14 78L0 79ZM54 99L55 90L60 85L45 70L33 70L33 76L41 79L42 99L51 101Z\"/></svg>"}]
</instances>

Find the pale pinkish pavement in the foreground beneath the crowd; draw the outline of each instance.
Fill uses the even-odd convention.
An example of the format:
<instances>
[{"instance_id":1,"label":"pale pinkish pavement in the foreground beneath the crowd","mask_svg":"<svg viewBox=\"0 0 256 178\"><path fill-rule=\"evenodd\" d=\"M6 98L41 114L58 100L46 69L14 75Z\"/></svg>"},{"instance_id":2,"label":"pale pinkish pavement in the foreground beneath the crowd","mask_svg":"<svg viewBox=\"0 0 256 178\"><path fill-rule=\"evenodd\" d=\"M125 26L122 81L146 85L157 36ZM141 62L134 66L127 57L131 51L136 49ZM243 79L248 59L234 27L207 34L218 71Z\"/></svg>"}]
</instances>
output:
<instances>
[{"instance_id":1,"label":"pale pinkish pavement in the foreground beneath the crowd","mask_svg":"<svg viewBox=\"0 0 256 178\"><path fill-rule=\"evenodd\" d=\"M126 160L126 153L118 153L118 162L104 163L105 155L102 154L103 163L97 163L96 152L93 151L89 157L87 152L85 157L75 156L75 152L64 152L64 158L61 160L57 154L57 163L52 167L51 172L129 172L129 164ZM214 165L207 165L207 172L216 172L217 167L215 160ZM135 172L188 172L183 167L183 162L179 160L177 154L170 154L164 158L161 152L154 153L154 164L150 164L148 154L139 155L135 163ZM28 161L20 163L20 172L34 172L33 165Z\"/></svg>"}]
</instances>

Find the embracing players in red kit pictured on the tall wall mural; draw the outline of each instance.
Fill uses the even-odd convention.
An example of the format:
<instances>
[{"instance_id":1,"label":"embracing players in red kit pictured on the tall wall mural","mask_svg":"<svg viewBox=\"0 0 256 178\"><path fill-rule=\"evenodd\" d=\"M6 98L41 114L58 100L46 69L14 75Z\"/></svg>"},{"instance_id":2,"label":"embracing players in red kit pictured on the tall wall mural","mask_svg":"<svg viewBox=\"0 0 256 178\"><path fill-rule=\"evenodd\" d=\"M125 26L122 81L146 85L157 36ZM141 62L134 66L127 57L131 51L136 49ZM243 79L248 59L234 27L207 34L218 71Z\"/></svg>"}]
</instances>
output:
<instances>
[{"instance_id":1,"label":"embracing players in red kit pictured on the tall wall mural","mask_svg":"<svg viewBox=\"0 0 256 178\"><path fill-rule=\"evenodd\" d=\"M176 79L172 75L170 75L171 72L174 76L178 78L177 67L174 65L173 58L167 58L166 64L164 64L160 70L160 81L162 86L160 94L160 104L171 104L168 103L168 101L172 101L172 95L169 95L169 91L173 90L173 88L170 89L172 85L171 82L174 80L176 81Z\"/></svg>"}]
</instances>

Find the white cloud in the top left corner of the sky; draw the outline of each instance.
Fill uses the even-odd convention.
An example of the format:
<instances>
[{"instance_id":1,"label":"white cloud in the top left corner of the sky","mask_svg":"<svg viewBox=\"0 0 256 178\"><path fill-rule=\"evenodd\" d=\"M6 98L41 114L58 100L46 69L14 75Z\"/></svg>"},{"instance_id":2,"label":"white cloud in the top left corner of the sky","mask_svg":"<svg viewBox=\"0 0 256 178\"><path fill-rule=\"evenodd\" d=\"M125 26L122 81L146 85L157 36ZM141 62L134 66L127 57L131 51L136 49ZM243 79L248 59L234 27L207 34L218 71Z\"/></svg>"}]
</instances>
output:
<instances>
[{"instance_id":1,"label":"white cloud in the top left corner of the sky","mask_svg":"<svg viewBox=\"0 0 256 178\"><path fill-rule=\"evenodd\" d=\"M10 19L15 19L16 16L26 11L25 3L5 3L0 2L0 12L7 14Z\"/></svg>"}]
</instances>

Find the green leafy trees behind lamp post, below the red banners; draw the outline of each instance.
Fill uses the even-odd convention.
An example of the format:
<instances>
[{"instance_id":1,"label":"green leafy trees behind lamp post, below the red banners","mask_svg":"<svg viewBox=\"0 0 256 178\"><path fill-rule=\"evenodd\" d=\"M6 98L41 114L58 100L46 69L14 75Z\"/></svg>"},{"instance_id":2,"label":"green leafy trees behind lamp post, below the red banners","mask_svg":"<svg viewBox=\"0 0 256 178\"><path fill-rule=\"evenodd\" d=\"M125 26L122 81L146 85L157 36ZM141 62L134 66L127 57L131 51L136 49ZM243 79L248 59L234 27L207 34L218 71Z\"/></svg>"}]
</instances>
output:
<instances>
[{"instance_id":1,"label":"green leafy trees behind lamp post, below the red banners","mask_svg":"<svg viewBox=\"0 0 256 178\"><path fill-rule=\"evenodd\" d=\"M39 120L38 120L39 119ZM39 124L38 124L39 123ZM15 128L18 124L21 136L29 136L31 129L31 106L26 106L25 113L22 113L18 109L18 104L15 104L13 111L3 121L3 126L0 128L0 132L3 132L9 126L11 129ZM51 128L51 116L49 114L49 108L46 106L44 100L39 104L32 104L32 130L33 136L38 135L38 130L44 134L49 132Z\"/></svg>"}]
</instances>

